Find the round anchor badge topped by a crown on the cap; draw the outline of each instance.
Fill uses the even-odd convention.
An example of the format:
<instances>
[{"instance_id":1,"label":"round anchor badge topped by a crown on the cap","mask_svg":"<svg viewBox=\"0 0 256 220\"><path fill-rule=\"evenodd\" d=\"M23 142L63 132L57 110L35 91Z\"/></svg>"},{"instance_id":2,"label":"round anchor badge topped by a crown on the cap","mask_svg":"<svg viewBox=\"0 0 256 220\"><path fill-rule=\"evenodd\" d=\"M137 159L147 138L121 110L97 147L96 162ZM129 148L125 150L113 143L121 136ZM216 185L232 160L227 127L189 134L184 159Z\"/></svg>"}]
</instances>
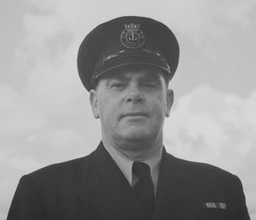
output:
<instances>
[{"instance_id":1,"label":"round anchor badge topped by a crown on the cap","mask_svg":"<svg viewBox=\"0 0 256 220\"><path fill-rule=\"evenodd\" d=\"M125 29L121 32L121 43L126 48L140 48L145 43L145 37L140 29L139 23L125 24Z\"/></svg>"}]
</instances>

